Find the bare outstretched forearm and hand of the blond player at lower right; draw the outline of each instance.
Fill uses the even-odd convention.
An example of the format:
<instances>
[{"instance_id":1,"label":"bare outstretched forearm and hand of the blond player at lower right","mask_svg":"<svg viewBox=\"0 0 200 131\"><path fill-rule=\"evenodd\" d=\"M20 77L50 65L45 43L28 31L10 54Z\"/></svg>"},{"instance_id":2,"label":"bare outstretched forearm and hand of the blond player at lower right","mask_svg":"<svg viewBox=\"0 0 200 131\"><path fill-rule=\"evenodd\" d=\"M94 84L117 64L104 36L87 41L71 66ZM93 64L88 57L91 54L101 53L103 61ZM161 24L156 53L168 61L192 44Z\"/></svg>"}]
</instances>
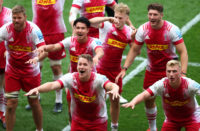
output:
<instances>
[{"instance_id":1,"label":"bare outstretched forearm and hand of the blond player at lower right","mask_svg":"<svg viewBox=\"0 0 200 131\"><path fill-rule=\"evenodd\" d=\"M139 104L140 102L142 102L150 97L151 97L151 95L149 94L149 92L147 92L145 90L142 93L140 93L139 95L137 95L136 97L134 97L132 99L132 101L130 101L129 103L123 104L122 107L125 107L125 108L131 107L132 109L134 109L135 105Z\"/></svg>"}]
</instances>

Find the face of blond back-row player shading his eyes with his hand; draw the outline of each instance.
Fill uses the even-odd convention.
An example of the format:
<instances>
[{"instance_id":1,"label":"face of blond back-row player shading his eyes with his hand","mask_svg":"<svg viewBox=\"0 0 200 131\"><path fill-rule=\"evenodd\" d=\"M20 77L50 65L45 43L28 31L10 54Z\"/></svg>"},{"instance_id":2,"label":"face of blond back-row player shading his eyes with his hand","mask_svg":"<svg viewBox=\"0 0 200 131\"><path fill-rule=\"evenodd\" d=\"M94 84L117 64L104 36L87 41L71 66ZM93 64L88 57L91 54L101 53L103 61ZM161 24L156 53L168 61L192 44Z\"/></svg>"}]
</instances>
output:
<instances>
[{"instance_id":1,"label":"face of blond back-row player shading his eyes with his hand","mask_svg":"<svg viewBox=\"0 0 200 131\"><path fill-rule=\"evenodd\" d=\"M115 12L115 18L119 21L118 24L115 24L115 27L118 29L123 29L126 21L128 20L128 15L121 12Z\"/></svg>"}]
</instances>

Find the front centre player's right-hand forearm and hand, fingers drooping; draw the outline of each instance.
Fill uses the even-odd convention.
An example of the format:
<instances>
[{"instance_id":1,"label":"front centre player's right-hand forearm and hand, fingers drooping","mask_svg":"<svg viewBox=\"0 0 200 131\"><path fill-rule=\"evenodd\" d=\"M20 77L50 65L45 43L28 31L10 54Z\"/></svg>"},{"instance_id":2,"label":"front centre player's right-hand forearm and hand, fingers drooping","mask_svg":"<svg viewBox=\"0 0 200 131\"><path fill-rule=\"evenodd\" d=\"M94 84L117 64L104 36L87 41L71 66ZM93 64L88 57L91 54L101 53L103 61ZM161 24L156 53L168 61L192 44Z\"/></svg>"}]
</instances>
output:
<instances>
[{"instance_id":1,"label":"front centre player's right-hand forearm and hand, fingers drooping","mask_svg":"<svg viewBox=\"0 0 200 131\"><path fill-rule=\"evenodd\" d=\"M105 88L107 90L107 94L112 94L113 100L120 97L119 86L117 84L109 82L109 83L106 84Z\"/></svg>"}]
</instances>

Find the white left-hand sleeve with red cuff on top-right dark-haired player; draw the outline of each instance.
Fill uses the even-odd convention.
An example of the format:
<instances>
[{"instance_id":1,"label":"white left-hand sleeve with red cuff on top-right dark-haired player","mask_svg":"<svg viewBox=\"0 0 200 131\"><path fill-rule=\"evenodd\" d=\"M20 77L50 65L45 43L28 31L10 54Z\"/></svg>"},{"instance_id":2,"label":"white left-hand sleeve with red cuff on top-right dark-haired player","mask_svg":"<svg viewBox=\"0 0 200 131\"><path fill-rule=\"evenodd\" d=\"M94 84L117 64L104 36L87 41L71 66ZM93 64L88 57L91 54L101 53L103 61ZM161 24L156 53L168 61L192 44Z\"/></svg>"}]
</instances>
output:
<instances>
[{"instance_id":1,"label":"white left-hand sleeve with red cuff on top-right dark-haired player","mask_svg":"<svg viewBox=\"0 0 200 131\"><path fill-rule=\"evenodd\" d=\"M138 30L137 33L135 35L135 40L134 42L138 45L143 45L144 44L144 30L143 30L143 25L141 25Z\"/></svg>"}]
</instances>

